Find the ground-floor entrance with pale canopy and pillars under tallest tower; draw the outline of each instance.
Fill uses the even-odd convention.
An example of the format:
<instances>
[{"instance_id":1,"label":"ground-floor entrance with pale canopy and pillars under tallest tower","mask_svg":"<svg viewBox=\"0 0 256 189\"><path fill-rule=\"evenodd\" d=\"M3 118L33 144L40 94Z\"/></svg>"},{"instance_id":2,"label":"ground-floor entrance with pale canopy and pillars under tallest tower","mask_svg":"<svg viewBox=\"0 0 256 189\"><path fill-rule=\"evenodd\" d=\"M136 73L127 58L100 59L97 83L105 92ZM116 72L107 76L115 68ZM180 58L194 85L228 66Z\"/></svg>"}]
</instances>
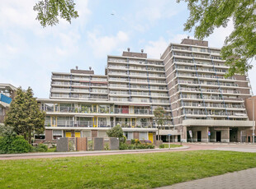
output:
<instances>
[{"instance_id":1,"label":"ground-floor entrance with pale canopy and pillars under tallest tower","mask_svg":"<svg viewBox=\"0 0 256 189\"><path fill-rule=\"evenodd\" d=\"M181 133L183 142L253 142L250 121L186 120Z\"/></svg>"}]
</instances>

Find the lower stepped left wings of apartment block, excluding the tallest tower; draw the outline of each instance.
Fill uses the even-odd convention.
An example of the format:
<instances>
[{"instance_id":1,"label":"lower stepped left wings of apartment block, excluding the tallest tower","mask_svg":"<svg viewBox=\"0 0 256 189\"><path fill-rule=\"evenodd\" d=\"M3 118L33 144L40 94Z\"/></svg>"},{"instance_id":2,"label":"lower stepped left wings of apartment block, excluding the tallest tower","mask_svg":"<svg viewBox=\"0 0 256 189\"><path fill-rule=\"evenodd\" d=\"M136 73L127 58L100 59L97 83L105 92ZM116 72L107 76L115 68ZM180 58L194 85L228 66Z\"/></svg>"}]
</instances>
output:
<instances>
[{"instance_id":1,"label":"lower stepped left wings of apartment block, excluding the tallest tower","mask_svg":"<svg viewBox=\"0 0 256 189\"><path fill-rule=\"evenodd\" d=\"M36 139L107 137L107 130L119 124L127 141L154 142L158 130L154 108L161 106L171 114L164 62L128 49L122 56L108 56L105 72L95 75L91 68L78 67L68 73L53 72L50 99L38 99L46 120L45 135ZM166 121L161 133L172 131L171 127L171 120Z\"/></svg>"}]
</instances>

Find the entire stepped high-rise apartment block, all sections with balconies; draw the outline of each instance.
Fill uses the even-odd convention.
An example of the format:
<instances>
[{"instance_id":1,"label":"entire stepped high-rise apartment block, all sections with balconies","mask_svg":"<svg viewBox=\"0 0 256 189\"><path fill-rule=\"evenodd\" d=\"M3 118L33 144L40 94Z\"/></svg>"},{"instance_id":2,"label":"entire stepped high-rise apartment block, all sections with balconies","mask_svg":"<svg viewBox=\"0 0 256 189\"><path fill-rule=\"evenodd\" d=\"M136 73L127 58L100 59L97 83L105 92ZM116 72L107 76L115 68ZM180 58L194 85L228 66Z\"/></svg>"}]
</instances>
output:
<instances>
[{"instance_id":1,"label":"entire stepped high-rise apartment block, all sections with balconies","mask_svg":"<svg viewBox=\"0 0 256 189\"><path fill-rule=\"evenodd\" d=\"M225 78L229 67L219 48L207 41L183 39L170 44L160 59L132 53L108 56L105 75L79 70L53 72L50 99L38 99L46 112L45 135L107 136L121 125L126 138L156 139L154 109L165 109L159 135L175 141L243 141L252 123L244 108L251 96L246 76Z\"/></svg>"}]
</instances>

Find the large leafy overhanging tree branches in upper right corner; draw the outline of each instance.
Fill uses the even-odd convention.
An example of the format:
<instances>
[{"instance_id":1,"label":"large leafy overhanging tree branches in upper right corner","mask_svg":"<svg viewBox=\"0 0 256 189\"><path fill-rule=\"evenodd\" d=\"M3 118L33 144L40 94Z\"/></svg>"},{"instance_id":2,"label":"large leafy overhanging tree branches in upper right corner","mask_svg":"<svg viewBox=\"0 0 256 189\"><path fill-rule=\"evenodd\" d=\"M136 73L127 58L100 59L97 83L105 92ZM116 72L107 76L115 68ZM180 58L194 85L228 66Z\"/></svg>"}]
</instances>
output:
<instances>
[{"instance_id":1,"label":"large leafy overhanging tree branches in upper right corner","mask_svg":"<svg viewBox=\"0 0 256 189\"><path fill-rule=\"evenodd\" d=\"M178 0L181 2L182 0ZM215 28L226 27L233 20L234 30L225 39L221 58L230 66L226 76L245 74L252 68L256 54L256 3L254 0L183 0L190 16L184 30L195 28L197 39L211 35Z\"/></svg>"}]
</instances>

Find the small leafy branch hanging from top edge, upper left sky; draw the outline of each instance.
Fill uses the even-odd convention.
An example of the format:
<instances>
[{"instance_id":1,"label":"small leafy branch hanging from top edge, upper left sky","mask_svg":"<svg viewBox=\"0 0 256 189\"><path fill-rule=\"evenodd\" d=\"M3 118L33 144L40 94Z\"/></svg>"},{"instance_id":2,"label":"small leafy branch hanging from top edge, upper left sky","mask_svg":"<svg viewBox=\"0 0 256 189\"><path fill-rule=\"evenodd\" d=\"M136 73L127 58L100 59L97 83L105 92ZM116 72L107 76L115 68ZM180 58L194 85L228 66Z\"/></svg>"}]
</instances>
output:
<instances>
[{"instance_id":1,"label":"small leafy branch hanging from top edge, upper left sky","mask_svg":"<svg viewBox=\"0 0 256 189\"><path fill-rule=\"evenodd\" d=\"M37 12L36 20L40 21L40 25L46 27L58 24L59 17L71 24L71 19L78 17L74 6L73 0L40 0L33 9Z\"/></svg>"}]
</instances>

